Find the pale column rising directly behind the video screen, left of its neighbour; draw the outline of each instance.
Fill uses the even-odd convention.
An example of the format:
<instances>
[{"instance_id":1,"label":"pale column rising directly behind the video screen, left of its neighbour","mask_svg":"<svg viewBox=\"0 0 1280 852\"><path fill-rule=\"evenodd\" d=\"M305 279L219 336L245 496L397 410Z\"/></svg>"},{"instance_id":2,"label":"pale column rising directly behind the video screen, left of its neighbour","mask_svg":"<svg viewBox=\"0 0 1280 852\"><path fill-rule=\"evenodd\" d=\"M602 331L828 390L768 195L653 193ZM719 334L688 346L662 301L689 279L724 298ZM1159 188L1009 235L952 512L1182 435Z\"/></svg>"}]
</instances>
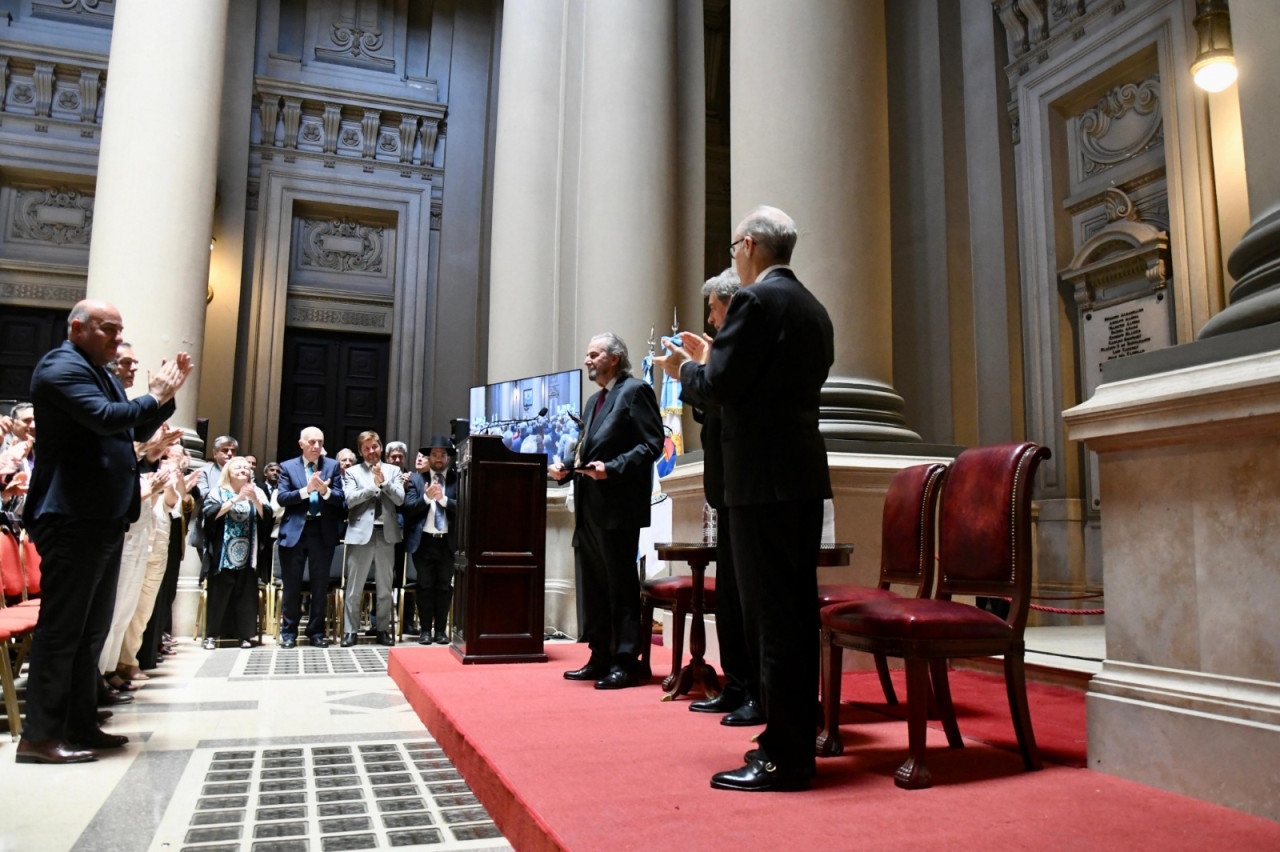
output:
<instances>
[{"instance_id":1,"label":"pale column rising directly behind the video screen, left of its neighbour","mask_svg":"<svg viewBox=\"0 0 1280 852\"><path fill-rule=\"evenodd\" d=\"M556 294L564 15L561 0L508 0L503 8L489 381L563 368L556 357Z\"/></svg>"}]
</instances>

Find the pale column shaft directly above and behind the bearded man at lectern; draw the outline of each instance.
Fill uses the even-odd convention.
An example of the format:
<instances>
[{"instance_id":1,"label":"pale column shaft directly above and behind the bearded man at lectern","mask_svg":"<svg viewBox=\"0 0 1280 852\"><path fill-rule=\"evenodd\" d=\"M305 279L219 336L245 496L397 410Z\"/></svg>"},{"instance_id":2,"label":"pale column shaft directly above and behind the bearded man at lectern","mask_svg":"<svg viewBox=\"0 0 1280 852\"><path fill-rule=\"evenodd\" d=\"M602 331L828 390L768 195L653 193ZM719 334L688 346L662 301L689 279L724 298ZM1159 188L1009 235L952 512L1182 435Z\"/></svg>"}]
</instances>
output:
<instances>
[{"instance_id":1,"label":"pale column shaft directly above and behind the bearded man at lectern","mask_svg":"<svg viewBox=\"0 0 1280 852\"><path fill-rule=\"evenodd\" d=\"M680 289L676 4L586 3L582 37L577 340L621 335L639 372Z\"/></svg>"}]
</instances>

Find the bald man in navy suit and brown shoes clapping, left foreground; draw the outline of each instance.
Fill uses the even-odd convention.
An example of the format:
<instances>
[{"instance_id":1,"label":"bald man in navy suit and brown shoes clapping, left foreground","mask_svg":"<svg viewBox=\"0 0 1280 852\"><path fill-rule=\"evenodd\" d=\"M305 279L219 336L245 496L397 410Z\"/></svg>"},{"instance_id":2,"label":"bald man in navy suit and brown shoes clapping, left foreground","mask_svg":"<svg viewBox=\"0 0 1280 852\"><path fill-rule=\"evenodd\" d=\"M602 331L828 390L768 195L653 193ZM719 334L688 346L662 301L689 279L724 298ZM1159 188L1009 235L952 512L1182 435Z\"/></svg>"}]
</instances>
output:
<instances>
[{"instance_id":1,"label":"bald man in navy suit and brown shoes clapping, left foreground","mask_svg":"<svg viewBox=\"0 0 1280 852\"><path fill-rule=\"evenodd\" d=\"M192 366L178 353L148 379L150 393L131 402L106 370L123 342L115 306L78 302L67 322L67 342L31 377L40 455L23 523L44 577L18 762L82 762L96 759L93 748L128 742L99 728L97 658L111 624L124 531L141 510L133 443L146 441L173 413Z\"/></svg>"}]
</instances>

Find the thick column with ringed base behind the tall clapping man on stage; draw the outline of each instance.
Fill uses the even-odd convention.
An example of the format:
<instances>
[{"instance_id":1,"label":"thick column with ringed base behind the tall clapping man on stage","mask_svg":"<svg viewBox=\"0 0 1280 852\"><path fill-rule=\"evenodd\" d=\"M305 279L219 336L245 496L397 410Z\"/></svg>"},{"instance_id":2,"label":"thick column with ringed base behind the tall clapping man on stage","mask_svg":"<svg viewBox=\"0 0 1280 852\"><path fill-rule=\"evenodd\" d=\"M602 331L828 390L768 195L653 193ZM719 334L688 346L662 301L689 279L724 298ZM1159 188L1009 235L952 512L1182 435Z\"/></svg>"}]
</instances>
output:
<instances>
[{"instance_id":1,"label":"thick column with ringed base behind the tall clapping man on stage","mask_svg":"<svg viewBox=\"0 0 1280 852\"><path fill-rule=\"evenodd\" d=\"M892 388L884 8L817 5L732 5L733 216L772 205L796 220L792 266L836 325L823 434L918 441Z\"/></svg>"}]
</instances>

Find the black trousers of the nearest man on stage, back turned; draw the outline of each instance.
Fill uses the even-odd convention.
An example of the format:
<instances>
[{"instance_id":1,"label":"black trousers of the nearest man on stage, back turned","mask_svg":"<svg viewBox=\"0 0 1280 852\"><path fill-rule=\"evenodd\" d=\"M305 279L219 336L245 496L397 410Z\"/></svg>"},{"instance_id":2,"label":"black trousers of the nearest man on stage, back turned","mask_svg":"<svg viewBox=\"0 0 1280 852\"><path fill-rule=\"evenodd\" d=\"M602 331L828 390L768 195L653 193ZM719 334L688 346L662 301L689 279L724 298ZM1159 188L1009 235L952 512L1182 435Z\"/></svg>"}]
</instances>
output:
<instances>
[{"instance_id":1,"label":"black trousers of the nearest man on stage, back turned","mask_svg":"<svg viewBox=\"0 0 1280 852\"><path fill-rule=\"evenodd\" d=\"M822 500L733 507L730 516L746 641L760 654L759 745L780 766L812 773ZM719 583L716 595L718 609Z\"/></svg>"}]
</instances>

